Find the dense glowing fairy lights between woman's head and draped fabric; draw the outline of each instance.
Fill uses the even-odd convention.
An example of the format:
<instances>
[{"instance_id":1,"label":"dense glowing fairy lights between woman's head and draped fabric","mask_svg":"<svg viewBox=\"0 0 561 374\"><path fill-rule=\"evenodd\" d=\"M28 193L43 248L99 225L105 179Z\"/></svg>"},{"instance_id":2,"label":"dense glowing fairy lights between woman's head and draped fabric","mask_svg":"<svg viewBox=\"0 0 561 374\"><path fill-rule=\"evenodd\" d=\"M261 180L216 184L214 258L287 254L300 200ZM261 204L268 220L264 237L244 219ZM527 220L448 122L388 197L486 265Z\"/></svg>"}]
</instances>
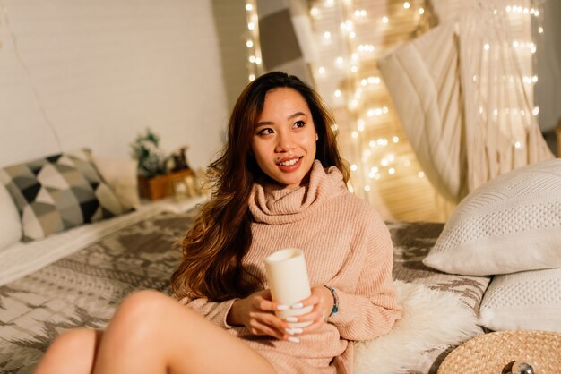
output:
<instances>
[{"instance_id":1,"label":"dense glowing fairy lights between woman's head and draped fabric","mask_svg":"<svg viewBox=\"0 0 561 374\"><path fill-rule=\"evenodd\" d=\"M422 4L421 1L404 2L402 11L393 10L404 30L410 31L411 25L419 24L425 13ZM326 57L315 69L316 82L320 92L327 93L324 96L328 101L332 99L332 107L347 109L348 123L341 123L342 138L348 139L343 141L347 145L343 147L343 154L350 160L355 192L363 196L368 196L373 180L394 176L400 163L410 166L410 157L403 157L403 153L397 151L400 134L367 131L383 128L393 121L390 103L382 98L387 93L383 92L381 77L375 69L375 59L384 51L380 38L375 37L392 29L393 16L371 13L366 5L365 2L326 0L314 2L310 10ZM346 87L332 89L329 86L333 81L344 81ZM331 89L332 95L329 94ZM422 171L419 173L419 177L424 177Z\"/></svg>"}]
</instances>

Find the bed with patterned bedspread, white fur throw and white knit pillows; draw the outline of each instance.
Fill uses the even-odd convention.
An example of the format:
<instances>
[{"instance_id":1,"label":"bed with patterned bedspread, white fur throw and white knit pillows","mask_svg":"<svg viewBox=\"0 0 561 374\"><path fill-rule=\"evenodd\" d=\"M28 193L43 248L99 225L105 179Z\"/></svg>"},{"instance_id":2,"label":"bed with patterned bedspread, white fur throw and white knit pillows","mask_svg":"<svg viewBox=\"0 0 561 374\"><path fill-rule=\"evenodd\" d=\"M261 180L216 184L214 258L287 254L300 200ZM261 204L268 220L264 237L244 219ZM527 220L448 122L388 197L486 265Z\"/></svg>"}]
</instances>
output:
<instances>
[{"instance_id":1,"label":"bed with patterned bedspread, white fur throw and white knit pillows","mask_svg":"<svg viewBox=\"0 0 561 374\"><path fill-rule=\"evenodd\" d=\"M177 241L206 199L142 204L3 248L0 372L30 373L66 329L105 327L127 294L170 293ZM557 159L498 177L446 225L387 222L403 316L389 334L354 343L355 371L436 373L455 347L490 330L561 332L560 201Z\"/></svg>"}]
</instances>

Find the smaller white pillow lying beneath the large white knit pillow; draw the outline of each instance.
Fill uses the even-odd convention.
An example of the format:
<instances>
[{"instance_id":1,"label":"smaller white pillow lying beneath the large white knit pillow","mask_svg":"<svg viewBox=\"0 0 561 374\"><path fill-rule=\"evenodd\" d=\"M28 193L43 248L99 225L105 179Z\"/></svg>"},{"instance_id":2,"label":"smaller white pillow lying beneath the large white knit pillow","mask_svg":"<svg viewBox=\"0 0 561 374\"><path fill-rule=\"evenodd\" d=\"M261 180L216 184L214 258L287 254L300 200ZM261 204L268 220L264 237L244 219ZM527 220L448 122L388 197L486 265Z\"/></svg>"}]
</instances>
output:
<instances>
[{"instance_id":1,"label":"smaller white pillow lying beneath the large white knit pillow","mask_svg":"<svg viewBox=\"0 0 561 374\"><path fill-rule=\"evenodd\" d=\"M495 276L479 307L491 330L561 332L561 268Z\"/></svg>"}]
</instances>

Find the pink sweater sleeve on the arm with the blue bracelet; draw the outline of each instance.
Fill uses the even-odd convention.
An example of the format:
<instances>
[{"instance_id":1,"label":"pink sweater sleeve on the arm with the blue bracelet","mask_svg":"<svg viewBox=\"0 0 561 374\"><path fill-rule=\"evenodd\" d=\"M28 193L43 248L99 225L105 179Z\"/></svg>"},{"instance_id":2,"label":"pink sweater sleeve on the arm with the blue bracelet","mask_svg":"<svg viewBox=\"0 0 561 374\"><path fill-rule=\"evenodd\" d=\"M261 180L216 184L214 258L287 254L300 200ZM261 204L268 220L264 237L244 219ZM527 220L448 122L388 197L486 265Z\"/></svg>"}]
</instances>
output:
<instances>
[{"instance_id":1,"label":"pink sweater sleeve on the arm with the blue bracelet","mask_svg":"<svg viewBox=\"0 0 561 374\"><path fill-rule=\"evenodd\" d=\"M333 286L339 297L339 311L329 322L348 340L382 336L401 318L392 279L392 239L384 221L372 213L351 249L351 259L345 265L348 268L343 269L359 274L356 287Z\"/></svg>"}]
</instances>

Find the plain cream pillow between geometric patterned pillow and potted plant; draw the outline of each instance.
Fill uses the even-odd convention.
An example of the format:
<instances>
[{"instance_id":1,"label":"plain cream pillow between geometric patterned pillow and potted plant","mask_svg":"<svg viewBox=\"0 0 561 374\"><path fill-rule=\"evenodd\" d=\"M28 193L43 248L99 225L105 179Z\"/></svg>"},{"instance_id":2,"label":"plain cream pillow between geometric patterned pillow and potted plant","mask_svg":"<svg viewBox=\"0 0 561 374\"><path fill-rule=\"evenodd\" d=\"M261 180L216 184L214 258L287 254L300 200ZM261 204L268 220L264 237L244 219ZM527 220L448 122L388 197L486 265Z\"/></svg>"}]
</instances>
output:
<instances>
[{"instance_id":1,"label":"plain cream pillow between geometric patterned pillow and potted plant","mask_svg":"<svg viewBox=\"0 0 561 374\"><path fill-rule=\"evenodd\" d=\"M140 207L138 195L138 161L125 157L92 156L99 174L111 186L125 210Z\"/></svg>"}]
</instances>

